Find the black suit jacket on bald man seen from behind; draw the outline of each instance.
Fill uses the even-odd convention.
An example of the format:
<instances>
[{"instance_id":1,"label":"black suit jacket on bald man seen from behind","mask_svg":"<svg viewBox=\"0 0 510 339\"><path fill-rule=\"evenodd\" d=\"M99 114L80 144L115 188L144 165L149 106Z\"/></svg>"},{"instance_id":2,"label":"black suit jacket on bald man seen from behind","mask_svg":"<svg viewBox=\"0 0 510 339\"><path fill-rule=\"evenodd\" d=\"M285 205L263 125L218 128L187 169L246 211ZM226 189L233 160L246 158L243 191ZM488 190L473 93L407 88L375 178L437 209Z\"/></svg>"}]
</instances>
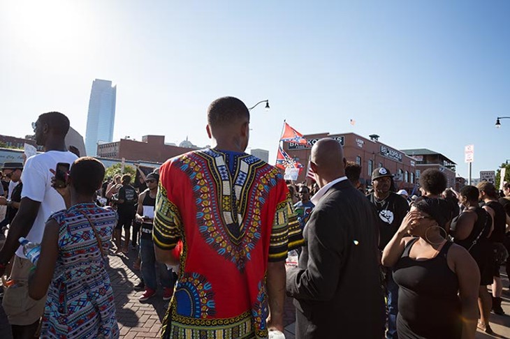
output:
<instances>
[{"instance_id":1,"label":"black suit jacket on bald man seen from behind","mask_svg":"<svg viewBox=\"0 0 510 339\"><path fill-rule=\"evenodd\" d=\"M296 338L383 338L374 207L348 180L333 185L303 232L298 267L287 271Z\"/></svg>"}]
</instances>

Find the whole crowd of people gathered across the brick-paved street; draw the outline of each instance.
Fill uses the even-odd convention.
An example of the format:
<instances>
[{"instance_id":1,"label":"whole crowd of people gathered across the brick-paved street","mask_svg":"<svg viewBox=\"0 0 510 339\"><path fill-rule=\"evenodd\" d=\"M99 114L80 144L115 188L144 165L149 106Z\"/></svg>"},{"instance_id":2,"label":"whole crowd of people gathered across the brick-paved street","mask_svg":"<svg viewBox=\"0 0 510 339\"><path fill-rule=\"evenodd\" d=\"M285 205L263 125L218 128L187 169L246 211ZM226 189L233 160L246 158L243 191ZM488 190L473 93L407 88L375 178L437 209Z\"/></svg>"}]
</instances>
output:
<instances>
[{"instance_id":1,"label":"whole crowd of people gathered across the brick-paved street","mask_svg":"<svg viewBox=\"0 0 510 339\"><path fill-rule=\"evenodd\" d=\"M477 327L493 333L491 312L504 314L509 183L456 192L427 169L409 197L378 167L365 191L360 165L326 138L312 147L314 182L296 185L245 153L249 110L232 97L207 109L212 148L135 183L105 179L99 160L69 151L64 114L33 127L44 152L1 168L2 305L14 338L119 338L109 255L137 258L140 302L159 280L161 338L267 338L284 331L285 296L296 338L474 338ZM297 264L286 264L294 250Z\"/></svg>"}]
</instances>

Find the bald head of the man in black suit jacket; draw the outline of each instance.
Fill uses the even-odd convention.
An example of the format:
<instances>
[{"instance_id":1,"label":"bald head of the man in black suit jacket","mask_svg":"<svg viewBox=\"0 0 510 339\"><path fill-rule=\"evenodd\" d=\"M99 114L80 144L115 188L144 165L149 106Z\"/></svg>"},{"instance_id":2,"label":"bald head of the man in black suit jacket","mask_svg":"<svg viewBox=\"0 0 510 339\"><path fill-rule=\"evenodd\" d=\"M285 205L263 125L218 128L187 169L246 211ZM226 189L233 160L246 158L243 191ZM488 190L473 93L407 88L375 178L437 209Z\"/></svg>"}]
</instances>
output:
<instances>
[{"instance_id":1,"label":"bald head of the man in black suit jacket","mask_svg":"<svg viewBox=\"0 0 510 339\"><path fill-rule=\"evenodd\" d=\"M345 175L344 149L342 145L330 138L321 139L312 147L311 161L318 181L333 181Z\"/></svg>"}]
</instances>

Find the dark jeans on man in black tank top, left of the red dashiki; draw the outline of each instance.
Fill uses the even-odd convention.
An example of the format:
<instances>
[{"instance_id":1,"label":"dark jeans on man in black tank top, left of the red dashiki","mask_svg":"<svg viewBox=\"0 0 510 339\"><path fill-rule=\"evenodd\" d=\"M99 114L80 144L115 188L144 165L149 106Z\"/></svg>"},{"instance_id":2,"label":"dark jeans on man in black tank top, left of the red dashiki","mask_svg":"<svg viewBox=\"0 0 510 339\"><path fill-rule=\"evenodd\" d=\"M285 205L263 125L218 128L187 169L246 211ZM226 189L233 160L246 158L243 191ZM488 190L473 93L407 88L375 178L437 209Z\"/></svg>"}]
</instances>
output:
<instances>
[{"instance_id":1,"label":"dark jeans on man in black tank top, left of the red dashiki","mask_svg":"<svg viewBox=\"0 0 510 339\"><path fill-rule=\"evenodd\" d=\"M156 266L159 271L161 285L168 288L173 287L172 270L167 269L165 264L156 262L152 240L140 239L140 257L142 259L142 277L146 287L156 290Z\"/></svg>"}]
</instances>

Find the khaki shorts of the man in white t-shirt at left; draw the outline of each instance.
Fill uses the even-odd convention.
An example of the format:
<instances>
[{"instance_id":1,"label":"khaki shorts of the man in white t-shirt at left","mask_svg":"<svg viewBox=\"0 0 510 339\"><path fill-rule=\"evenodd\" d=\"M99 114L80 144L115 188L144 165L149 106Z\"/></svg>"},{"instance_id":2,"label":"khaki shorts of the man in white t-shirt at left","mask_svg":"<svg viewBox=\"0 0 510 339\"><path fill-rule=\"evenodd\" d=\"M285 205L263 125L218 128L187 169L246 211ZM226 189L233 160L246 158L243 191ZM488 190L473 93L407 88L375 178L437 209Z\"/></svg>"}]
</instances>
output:
<instances>
[{"instance_id":1,"label":"khaki shorts of the man in white t-shirt at left","mask_svg":"<svg viewBox=\"0 0 510 339\"><path fill-rule=\"evenodd\" d=\"M15 285L5 289L2 301L11 325L27 326L43 316L46 296L41 300L34 300L29 296L28 278L32 266L29 259L14 256L10 279L15 281Z\"/></svg>"}]
</instances>

